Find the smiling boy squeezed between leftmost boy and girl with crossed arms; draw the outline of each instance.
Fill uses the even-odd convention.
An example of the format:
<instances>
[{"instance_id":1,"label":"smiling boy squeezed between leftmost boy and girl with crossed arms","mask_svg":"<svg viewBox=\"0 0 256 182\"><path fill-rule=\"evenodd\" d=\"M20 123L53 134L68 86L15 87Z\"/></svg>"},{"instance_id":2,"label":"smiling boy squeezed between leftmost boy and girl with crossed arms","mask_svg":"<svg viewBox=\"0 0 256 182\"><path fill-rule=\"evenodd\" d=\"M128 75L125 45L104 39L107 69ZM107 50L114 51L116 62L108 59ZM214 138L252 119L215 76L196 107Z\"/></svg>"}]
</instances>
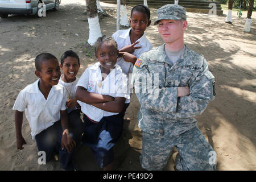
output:
<instances>
[{"instance_id":1,"label":"smiling boy squeezed between leftmost boy and girl with crossed arms","mask_svg":"<svg viewBox=\"0 0 256 182\"><path fill-rule=\"evenodd\" d=\"M60 58L60 68L63 70L63 75L60 76L59 84L63 85L68 101L68 124L70 135L79 144L82 140L82 133L84 133L84 123L80 117L80 105L76 100L75 86L79 81L76 77L80 68L80 59L76 52L69 50L65 51Z\"/></svg>"}]
</instances>

